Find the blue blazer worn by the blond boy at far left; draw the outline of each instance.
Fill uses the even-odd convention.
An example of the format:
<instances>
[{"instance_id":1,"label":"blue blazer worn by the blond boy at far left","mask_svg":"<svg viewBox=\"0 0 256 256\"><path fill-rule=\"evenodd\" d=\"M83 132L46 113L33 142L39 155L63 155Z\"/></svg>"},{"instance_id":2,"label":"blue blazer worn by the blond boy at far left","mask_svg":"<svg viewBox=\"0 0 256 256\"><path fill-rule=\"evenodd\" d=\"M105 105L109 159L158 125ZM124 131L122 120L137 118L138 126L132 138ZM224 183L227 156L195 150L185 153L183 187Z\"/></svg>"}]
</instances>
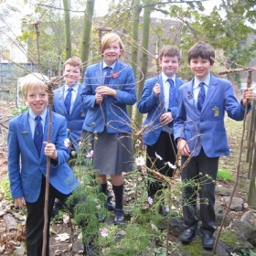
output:
<instances>
[{"instance_id":1,"label":"blue blazer worn by the blond boy at far left","mask_svg":"<svg viewBox=\"0 0 256 256\"><path fill-rule=\"evenodd\" d=\"M52 112L50 139L51 143L56 145L58 159L51 161L49 183L65 195L69 195L79 185L67 164L69 149L64 144L67 137L65 118ZM44 141L48 141L48 114L44 127ZM41 155L37 155L28 123L28 111L9 121L7 142L12 197L25 197L28 203L34 203L40 194L42 176L46 176L47 157L44 155L45 146L42 146Z\"/></svg>"}]
</instances>

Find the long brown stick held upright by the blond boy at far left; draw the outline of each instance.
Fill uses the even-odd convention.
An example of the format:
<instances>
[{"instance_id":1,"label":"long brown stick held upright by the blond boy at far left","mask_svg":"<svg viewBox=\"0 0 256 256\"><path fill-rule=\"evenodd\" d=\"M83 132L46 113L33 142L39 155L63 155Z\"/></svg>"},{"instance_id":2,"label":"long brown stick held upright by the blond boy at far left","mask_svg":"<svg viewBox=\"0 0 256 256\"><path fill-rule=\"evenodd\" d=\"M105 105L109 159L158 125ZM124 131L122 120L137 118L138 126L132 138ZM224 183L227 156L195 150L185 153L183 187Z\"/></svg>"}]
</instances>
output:
<instances>
[{"instance_id":1,"label":"long brown stick held upright by the blond boy at far left","mask_svg":"<svg viewBox=\"0 0 256 256\"><path fill-rule=\"evenodd\" d=\"M51 138L51 112L53 103L53 88L52 84L54 81L48 83L48 143L50 143ZM45 208L44 208L44 230L43 230L43 250L42 256L47 255L47 239L48 239L48 191L49 191L49 167L50 167L50 157L47 156L47 171L46 171L46 191L45 191Z\"/></svg>"}]
</instances>

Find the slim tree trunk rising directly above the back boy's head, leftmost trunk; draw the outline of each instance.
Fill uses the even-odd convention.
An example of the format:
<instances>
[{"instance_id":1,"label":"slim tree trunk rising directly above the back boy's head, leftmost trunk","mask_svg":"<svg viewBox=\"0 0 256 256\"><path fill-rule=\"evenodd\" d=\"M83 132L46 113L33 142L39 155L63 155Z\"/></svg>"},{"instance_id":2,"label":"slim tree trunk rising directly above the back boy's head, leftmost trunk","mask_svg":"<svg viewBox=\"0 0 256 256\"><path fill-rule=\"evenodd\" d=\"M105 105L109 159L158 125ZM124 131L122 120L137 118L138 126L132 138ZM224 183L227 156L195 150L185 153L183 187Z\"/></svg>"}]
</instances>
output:
<instances>
[{"instance_id":1,"label":"slim tree trunk rising directly above the back boy's head, leftmost trunk","mask_svg":"<svg viewBox=\"0 0 256 256\"><path fill-rule=\"evenodd\" d=\"M65 52L66 52L66 59L69 59L72 56L71 37L70 37L70 15L69 15L70 2L69 0L63 0L63 5L64 5L64 18L65 18Z\"/></svg>"}]
</instances>

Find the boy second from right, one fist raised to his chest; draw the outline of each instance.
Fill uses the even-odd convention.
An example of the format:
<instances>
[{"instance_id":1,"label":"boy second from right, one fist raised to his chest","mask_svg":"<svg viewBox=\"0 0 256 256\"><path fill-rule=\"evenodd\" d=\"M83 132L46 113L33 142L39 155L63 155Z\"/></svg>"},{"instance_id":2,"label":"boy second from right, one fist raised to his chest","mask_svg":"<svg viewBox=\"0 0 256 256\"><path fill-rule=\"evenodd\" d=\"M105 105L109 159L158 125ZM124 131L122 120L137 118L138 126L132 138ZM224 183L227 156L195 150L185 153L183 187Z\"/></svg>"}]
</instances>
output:
<instances>
[{"instance_id":1,"label":"boy second from right, one fist raised to his chest","mask_svg":"<svg viewBox=\"0 0 256 256\"><path fill-rule=\"evenodd\" d=\"M162 72L159 76L145 80L144 90L138 102L138 110L147 113L143 133L146 145L146 166L154 168L165 176L173 176L174 169L169 164L176 163L176 144L173 124L178 104L178 88L184 83L176 77L179 67L179 49L165 46L159 55ZM161 183L151 182L148 197L154 197L161 191ZM167 214L168 208L160 207L160 213Z\"/></svg>"}]
</instances>

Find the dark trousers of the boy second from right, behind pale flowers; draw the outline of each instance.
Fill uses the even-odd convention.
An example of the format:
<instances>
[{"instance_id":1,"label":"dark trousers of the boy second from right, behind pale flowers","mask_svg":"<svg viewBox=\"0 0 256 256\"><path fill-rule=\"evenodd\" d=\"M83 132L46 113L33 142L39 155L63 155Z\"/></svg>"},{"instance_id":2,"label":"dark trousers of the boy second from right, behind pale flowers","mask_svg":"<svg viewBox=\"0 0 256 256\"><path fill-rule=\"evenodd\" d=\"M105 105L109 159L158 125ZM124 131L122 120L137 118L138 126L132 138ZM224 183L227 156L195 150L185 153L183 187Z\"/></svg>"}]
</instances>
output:
<instances>
[{"instance_id":1,"label":"dark trousers of the boy second from right, behind pale flowers","mask_svg":"<svg viewBox=\"0 0 256 256\"><path fill-rule=\"evenodd\" d=\"M163 159L160 160L155 156L160 155ZM146 166L150 169L158 171L164 176L173 176L174 170L166 162L172 165L176 163L176 146L174 142L174 135L166 132L161 132L158 140L153 145L146 146ZM148 184L148 197L154 197L155 193L162 188L162 182L154 181Z\"/></svg>"}]
</instances>

